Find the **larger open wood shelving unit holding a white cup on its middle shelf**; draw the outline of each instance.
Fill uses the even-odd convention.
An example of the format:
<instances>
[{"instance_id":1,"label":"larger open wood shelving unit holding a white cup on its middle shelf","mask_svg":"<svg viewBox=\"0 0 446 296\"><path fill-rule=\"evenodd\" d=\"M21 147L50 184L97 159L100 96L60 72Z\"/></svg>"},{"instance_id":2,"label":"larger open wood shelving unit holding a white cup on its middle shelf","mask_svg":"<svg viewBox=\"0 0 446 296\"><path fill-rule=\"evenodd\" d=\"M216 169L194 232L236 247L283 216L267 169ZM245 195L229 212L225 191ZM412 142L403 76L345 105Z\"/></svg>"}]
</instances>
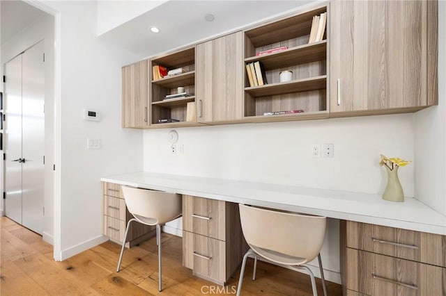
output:
<instances>
[{"instance_id":1,"label":"larger open wood shelving unit holding a white cup on its middle shelf","mask_svg":"<svg viewBox=\"0 0 446 296\"><path fill-rule=\"evenodd\" d=\"M327 6L323 6L245 31L245 65L261 62L268 84L250 86L245 74L244 120L265 122L328 117L327 29L323 40L308 43L313 17L327 11ZM288 49L256 56L260 51L285 46ZM282 71L293 72L292 80L280 82ZM304 112L263 115L288 110Z\"/></svg>"}]
</instances>

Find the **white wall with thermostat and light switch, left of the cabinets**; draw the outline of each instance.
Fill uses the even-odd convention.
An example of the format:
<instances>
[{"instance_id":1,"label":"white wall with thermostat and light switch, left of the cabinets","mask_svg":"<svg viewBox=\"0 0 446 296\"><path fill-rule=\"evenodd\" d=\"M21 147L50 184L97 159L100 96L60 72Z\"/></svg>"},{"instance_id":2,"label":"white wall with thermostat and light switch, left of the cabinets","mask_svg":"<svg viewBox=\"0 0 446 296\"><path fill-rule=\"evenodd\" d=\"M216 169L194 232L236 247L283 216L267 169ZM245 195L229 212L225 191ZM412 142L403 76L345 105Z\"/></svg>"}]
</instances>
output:
<instances>
[{"instance_id":1,"label":"white wall with thermostat and light switch, left of the cabinets","mask_svg":"<svg viewBox=\"0 0 446 296\"><path fill-rule=\"evenodd\" d=\"M95 1L46 1L59 11L61 40L61 176L59 259L103 241L100 177L142 169L141 131L121 129L121 67L138 60L96 35ZM82 120L82 109L101 113ZM86 149L100 138L101 149ZM58 171L59 170L59 171ZM59 226L58 226L59 227Z\"/></svg>"}]
</instances>

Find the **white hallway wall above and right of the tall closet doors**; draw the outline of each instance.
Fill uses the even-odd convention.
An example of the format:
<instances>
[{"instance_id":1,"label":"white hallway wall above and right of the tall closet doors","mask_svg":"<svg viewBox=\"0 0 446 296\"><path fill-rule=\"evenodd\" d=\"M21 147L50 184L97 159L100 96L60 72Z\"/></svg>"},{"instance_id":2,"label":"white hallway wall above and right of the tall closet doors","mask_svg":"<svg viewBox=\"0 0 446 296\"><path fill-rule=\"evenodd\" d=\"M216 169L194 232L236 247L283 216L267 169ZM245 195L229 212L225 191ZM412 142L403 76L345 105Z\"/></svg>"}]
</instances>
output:
<instances>
[{"instance_id":1,"label":"white hallway wall above and right of the tall closet doors","mask_svg":"<svg viewBox=\"0 0 446 296\"><path fill-rule=\"evenodd\" d=\"M44 14L1 46L1 65L40 40L45 42L45 224L43 239L53 240L54 186L54 17ZM3 166L2 166L3 167ZM3 170L1 170L3 172ZM1 190L3 192L3 190ZM1 203L3 206L3 202ZM1 208L3 210L3 207Z\"/></svg>"}]
</instances>

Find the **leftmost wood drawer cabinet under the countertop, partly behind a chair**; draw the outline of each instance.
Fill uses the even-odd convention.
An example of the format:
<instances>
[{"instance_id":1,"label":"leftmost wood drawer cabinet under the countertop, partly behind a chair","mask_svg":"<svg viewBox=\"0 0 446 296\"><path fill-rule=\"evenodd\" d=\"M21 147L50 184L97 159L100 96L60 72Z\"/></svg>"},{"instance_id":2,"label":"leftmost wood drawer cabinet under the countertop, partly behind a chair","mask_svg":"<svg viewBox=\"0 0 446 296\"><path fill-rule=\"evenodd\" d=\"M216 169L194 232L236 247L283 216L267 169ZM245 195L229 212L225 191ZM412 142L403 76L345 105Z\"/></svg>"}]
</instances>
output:
<instances>
[{"instance_id":1,"label":"leftmost wood drawer cabinet under the countertop, partly behind a chair","mask_svg":"<svg viewBox=\"0 0 446 296\"><path fill-rule=\"evenodd\" d=\"M115 183L102 182L102 202L104 205L104 230L103 234L110 240L122 244L125 235L127 222L132 219L125 206L125 200L121 185ZM155 227L150 227L137 222L130 224L127 241L128 247L139 244L152 236L156 236Z\"/></svg>"}]
</instances>

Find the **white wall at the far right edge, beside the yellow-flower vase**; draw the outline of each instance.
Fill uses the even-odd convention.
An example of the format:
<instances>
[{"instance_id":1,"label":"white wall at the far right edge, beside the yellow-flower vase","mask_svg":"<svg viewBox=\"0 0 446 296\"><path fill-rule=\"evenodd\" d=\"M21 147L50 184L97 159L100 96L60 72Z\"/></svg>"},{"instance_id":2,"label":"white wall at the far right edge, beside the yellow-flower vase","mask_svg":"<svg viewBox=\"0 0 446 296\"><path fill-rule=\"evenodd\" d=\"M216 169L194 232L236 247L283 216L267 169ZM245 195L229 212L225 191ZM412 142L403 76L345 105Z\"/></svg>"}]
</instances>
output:
<instances>
[{"instance_id":1,"label":"white wall at the far right edge, beside the yellow-flower vase","mask_svg":"<svg viewBox=\"0 0 446 296\"><path fill-rule=\"evenodd\" d=\"M446 2L438 1L438 106L415 114L415 196L446 215Z\"/></svg>"}]
</instances>

